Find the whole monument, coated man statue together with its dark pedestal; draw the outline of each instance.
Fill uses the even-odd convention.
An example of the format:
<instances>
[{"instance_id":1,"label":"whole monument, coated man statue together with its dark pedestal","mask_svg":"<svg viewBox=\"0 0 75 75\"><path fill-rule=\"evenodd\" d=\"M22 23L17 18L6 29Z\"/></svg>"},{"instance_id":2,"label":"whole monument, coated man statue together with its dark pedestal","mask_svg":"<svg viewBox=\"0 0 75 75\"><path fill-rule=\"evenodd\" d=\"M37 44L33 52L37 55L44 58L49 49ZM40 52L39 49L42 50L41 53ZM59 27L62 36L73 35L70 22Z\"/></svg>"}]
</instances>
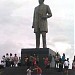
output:
<instances>
[{"instance_id":1,"label":"whole monument, coated man statue together with its dark pedestal","mask_svg":"<svg viewBox=\"0 0 75 75\"><path fill-rule=\"evenodd\" d=\"M21 49L22 64L25 64L25 56L39 56L40 65L43 64L43 58L54 55L55 52L46 45L46 33L48 32L47 18L52 16L50 7L44 4L44 0L39 0L39 5L34 9L33 25L34 33L36 35L36 48ZM43 48L40 48L40 35L42 34Z\"/></svg>"}]
</instances>

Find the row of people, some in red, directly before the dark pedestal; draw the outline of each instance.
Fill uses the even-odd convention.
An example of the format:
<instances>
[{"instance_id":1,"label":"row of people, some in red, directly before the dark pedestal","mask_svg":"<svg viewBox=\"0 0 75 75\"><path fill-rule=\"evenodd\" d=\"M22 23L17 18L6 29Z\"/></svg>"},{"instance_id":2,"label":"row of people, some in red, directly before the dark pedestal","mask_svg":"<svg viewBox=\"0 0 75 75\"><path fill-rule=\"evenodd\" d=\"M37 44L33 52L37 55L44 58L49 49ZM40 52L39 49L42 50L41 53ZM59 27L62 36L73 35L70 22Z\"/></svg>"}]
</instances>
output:
<instances>
[{"instance_id":1,"label":"row of people, some in red, directly before the dark pedestal","mask_svg":"<svg viewBox=\"0 0 75 75\"><path fill-rule=\"evenodd\" d=\"M33 56L25 56L24 61L26 66L34 67L40 65L41 61L44 61L42 64L45 65L45 68L49 68L52 62L52 55L50 54L49 56L41 58L38 55L33 54Z\"/></svg>"}]
</instances>

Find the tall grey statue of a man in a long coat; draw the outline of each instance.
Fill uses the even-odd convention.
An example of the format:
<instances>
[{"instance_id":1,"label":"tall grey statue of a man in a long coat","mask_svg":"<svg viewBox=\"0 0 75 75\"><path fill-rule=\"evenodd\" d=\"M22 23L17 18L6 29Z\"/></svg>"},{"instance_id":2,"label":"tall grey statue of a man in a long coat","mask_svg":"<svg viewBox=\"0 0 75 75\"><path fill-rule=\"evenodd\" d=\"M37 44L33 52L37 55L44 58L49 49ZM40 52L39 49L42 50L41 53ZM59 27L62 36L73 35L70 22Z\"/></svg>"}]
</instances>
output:
<instances>
[{"instance_id":1,"label":"tall grey statue of a man in a long coat","mask_svg":"<svg viewBox=\"0 0 75 75\"><path fill-rule=\"evenodd\" d=\"M46 33L48 32L47 18L52 16L50 7L44 4L44 0L39 0L39 5L35 7L33 25L36 35L36 48L40 46L40 34L42 34L43 48L46 46Z\"/></svg>"}]
</instances>

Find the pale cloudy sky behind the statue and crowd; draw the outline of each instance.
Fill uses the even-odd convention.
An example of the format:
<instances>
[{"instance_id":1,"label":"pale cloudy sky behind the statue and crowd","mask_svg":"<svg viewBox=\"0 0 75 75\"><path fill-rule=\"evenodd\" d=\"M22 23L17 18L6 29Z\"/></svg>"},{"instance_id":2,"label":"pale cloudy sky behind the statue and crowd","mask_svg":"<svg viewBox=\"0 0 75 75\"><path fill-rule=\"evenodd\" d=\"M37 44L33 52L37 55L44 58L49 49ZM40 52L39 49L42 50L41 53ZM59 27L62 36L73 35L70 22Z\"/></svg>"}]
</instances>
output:
<instances>
[{"instance_id":1,"label":"pale cloudy sky behind the statue and crowd","mask_svg":"<svg viewBox=\"0 0 75 75\"><path fill-rule=\"evenodd\" d=\"M65 53L72 62L74 0L45 0L44 3L52 11L48 19L47 47L61 55ZM35 48L32 22L36 6L38 0L0 0L0 59L6 53L21 55L22 48Z\"/></svg>"}]
</instances>

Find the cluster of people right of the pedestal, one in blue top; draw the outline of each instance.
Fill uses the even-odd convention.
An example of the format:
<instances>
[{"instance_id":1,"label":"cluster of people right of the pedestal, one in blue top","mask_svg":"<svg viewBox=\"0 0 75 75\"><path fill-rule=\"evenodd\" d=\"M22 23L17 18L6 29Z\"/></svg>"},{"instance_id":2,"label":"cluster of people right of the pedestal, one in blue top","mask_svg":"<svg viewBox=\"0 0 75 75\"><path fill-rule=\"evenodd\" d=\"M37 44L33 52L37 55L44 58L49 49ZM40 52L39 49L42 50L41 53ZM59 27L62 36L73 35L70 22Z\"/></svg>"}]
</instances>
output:
<instances>
[{"instance_id":1,"label":"cluster of people right of the pedestal, one in blue top","mask_svg":"<svg viewBox=\"0 0 75 75\"><path fill-rule=\"evenodd\" d=\"M58 68L58 71L63 71L68 74L68 68L69 68L69 58L66 59L65 54L63 53L62 56L60 56L58 53L55 55L55 68Z\"/></svg>"}]
</instances>

